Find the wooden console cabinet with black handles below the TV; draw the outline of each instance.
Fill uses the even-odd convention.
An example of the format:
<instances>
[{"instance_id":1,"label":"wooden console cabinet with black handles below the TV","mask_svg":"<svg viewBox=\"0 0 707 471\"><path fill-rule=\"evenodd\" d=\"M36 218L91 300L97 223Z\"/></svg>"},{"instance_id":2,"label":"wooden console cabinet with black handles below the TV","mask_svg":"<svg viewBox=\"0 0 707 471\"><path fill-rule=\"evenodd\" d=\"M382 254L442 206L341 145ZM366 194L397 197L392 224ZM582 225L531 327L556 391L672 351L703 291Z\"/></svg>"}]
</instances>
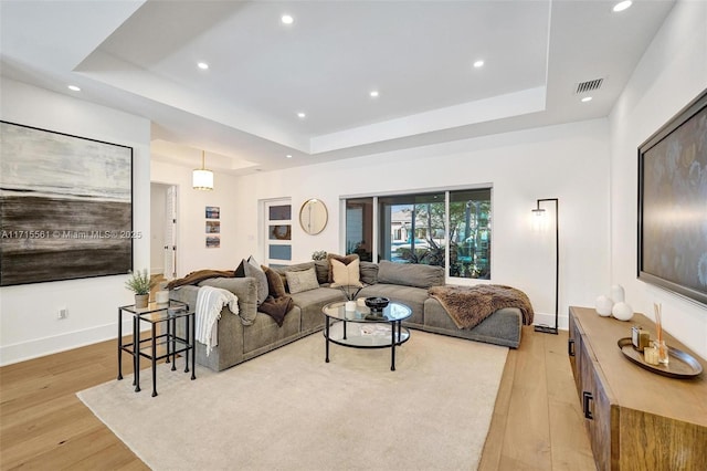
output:
<instances>
[{"instance_id":1,"label":"wooden console cabinet with black handles below the TV","mask_svg":"<svg viewBox=\"0 0 707 471\"><path fill-rule=\"evenodd\" d=\"M665 335L703 365L701 375L676 379L641 368L616 345L634 325L655 338L655 324L642 314L621 322L570 307L568 354L597 469L705 471L707 362Z\"/></svg>"}]
</instances>

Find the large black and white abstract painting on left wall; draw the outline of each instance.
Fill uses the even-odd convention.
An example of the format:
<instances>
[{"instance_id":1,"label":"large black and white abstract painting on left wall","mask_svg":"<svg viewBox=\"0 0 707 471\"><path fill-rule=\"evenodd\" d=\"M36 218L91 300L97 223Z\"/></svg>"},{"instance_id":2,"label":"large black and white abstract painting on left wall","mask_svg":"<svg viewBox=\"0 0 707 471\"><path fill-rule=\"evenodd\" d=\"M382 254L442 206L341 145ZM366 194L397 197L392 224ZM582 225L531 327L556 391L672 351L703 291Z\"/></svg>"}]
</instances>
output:
<instances>
[{"instance_id":1,"label":"large black and white abstract painting on left wall","mask_svg":"<svg viewBox=\"0 0 707 471\"><path fill-rule=\"evenodd\" d=\"M133 148L0 122L0 285L133 269Z\"/></svg>"}]
</instances>

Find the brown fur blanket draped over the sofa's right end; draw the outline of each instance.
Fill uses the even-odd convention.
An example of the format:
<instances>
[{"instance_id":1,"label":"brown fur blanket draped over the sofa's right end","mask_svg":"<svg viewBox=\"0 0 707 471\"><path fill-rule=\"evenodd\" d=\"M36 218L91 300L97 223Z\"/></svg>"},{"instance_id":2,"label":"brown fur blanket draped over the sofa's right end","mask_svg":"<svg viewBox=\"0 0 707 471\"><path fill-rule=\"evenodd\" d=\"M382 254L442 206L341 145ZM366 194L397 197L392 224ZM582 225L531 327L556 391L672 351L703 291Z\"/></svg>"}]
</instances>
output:
<instances>
[{"instance_id":1,"label":"brown fur blanket draped over the sofa's right end","mask_svg":"<svg viewBox=\"0 0 707 471\"><path fill-rule=\"evenodd\" d=\"M517 307L523 313L523 323L532 323L532 305L520 290L500 284L474 286L432 286L430 295L446 310L457 328L474 328L494 312L504 307Z\"/></svg>"}]
</instances>

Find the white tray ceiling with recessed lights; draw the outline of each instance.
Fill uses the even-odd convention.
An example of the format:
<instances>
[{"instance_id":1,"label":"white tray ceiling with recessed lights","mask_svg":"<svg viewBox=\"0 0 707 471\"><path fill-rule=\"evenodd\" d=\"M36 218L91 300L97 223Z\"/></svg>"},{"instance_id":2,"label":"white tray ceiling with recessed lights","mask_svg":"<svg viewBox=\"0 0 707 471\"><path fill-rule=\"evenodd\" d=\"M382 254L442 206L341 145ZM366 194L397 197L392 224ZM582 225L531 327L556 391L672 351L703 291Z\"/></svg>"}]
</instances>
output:
<instances>
[{"instance_id":1,"label":"white tray ceiling with recessed lights","mask_svg":"<svg viewBox=\"0 0 707 471\"><path fill-rule=\"evenodd\" d=\"M606 116L673 3L0 0L0 65L240 175Z\"/></svg>"}]
</instances>

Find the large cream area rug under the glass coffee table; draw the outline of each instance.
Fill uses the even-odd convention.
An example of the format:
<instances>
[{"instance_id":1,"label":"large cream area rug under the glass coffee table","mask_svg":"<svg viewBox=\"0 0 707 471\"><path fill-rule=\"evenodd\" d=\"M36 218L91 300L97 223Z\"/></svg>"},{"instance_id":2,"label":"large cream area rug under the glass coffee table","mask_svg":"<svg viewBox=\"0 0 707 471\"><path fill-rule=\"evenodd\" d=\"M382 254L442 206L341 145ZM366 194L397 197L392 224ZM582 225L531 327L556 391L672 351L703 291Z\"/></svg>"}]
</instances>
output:
<instances>
[{"instance_id":1,"label":"large cream area rug under the glass coffee table","mask_svg":"<svg viewBox=\"0 0 707 471\"><path fill-rule=\"evenodd\" d=\"M397 349L314 334L197 379L159 367L77 394L155 470L475 470L508 349L413 331Z\"/></svg>"}]
</instances>

